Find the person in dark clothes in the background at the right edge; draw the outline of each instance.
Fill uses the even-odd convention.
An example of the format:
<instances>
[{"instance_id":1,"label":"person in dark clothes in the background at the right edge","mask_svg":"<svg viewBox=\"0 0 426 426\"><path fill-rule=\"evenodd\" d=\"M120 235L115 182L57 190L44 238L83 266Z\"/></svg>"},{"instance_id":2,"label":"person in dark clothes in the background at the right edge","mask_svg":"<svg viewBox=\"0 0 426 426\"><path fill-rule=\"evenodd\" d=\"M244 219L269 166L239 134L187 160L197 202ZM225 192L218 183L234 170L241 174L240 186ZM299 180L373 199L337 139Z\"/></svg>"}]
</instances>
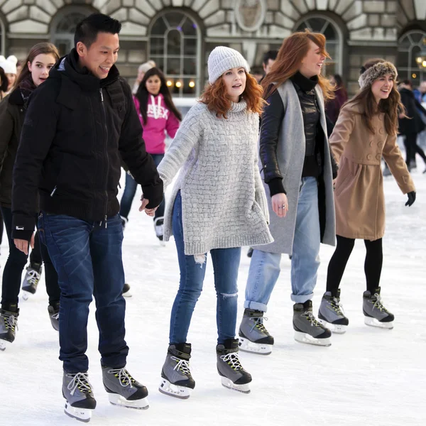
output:
<instances>
[{"instance_id":1,"label":"person in dark clothes in the background at the right edge","mask_svg":"<svg viewBox=\"0 0 426 426\"><path fill-rule=\"evenodd\" d=\"M401 102L405 107L405 114L400 114L398 127L400 134L405 136L405 163L407 163L408 170L410 170L410 161L415 161L416 153L422 157L426 165L425 152L417 145L417 135L425 130L425 123L423 123L418 110L420 109L423 114L426 114L426 109L415 99L413 85L410 80L403 80L403 83L400 84L399 92ZM423 173L426 173L426 168Z\"/></svg>"}]
</instances>

